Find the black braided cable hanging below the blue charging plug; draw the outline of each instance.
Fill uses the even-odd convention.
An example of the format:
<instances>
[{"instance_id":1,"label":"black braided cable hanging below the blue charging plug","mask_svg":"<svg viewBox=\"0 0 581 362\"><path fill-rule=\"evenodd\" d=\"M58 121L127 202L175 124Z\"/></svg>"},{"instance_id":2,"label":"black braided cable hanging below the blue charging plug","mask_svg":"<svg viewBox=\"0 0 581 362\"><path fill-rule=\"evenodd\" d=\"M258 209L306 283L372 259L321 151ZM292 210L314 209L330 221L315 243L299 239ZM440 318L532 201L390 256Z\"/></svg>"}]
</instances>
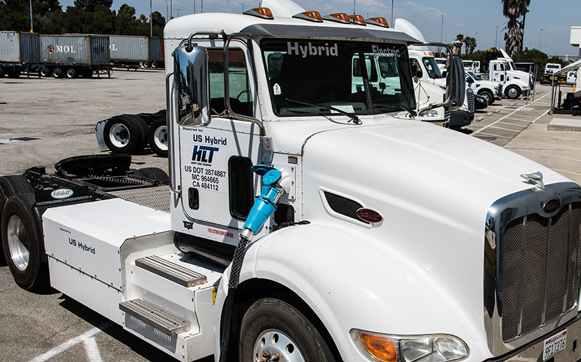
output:
<instances>
[{"instance_id":1,"label":"black braided cable hanging below the blue charging plug","mask_svg":"<svg viewBox=\"0 0 581 362\"><path fill-rule=\"evenodd\" d=\"M240 283L240 271L246 246L249 240L245 236L240 236L240 241L234 250L234 259L232 259L232 269L230 269L230 279L228 281L228 295L224 306L224 326L222 326L222 344L220 345L220 362L227 362L228 346L230 344L230 328L232 326L232 307L234 307L234 294Z\"/></svg>"}]
</instances>

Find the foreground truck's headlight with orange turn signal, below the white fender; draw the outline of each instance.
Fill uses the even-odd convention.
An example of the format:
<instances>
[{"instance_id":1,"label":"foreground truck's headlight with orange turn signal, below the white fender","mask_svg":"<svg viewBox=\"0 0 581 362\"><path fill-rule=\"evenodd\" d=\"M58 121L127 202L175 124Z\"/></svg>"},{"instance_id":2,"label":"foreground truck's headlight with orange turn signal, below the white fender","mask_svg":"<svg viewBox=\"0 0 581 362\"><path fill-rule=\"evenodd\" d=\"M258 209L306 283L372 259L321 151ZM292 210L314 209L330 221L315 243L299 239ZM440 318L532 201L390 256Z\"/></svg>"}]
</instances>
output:
<instances>
[{"instance_id":1,"label":"foreground truck's headlight with orange turn signal, below the white fender","mask_svg":"<svg viewBox=\"0 0 581 362\"><path fill-rule=\"evenodd\" d=\"M453 335L385 335L351 330L357 348L380 362L452 362L469 356L468 346Z\"/></svg>"}]
</instances>

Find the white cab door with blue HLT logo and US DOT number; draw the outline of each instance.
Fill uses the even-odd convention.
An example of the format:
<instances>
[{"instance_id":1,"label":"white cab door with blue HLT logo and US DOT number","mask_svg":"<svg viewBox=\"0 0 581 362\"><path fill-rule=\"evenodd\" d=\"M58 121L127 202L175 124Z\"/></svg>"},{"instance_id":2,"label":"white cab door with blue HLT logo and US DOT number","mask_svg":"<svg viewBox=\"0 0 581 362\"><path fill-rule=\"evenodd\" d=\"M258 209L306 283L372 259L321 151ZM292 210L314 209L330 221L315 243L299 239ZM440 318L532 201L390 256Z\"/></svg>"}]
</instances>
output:
<instances>
[{"instance_id":1,"label":"white cab door with blue HLT logo and US DOT number","mask_svg":"<svg viewBox=\"0 0 581 362\"><path fill-rule=\"evenodd\" d=\"M245 44L233 41L225 64L222 46L208 48L211 122L180 128L182 208L197 226L194 234L232 236L241 229L253 205L251 166L258 161L260 129L225 112L225 69L229 69L229 102L235 114L255 117L255 89ZM208 226L212 225L212 226ZM214 235L216 236L216 235Z\"/></svg>"}]
</instances>

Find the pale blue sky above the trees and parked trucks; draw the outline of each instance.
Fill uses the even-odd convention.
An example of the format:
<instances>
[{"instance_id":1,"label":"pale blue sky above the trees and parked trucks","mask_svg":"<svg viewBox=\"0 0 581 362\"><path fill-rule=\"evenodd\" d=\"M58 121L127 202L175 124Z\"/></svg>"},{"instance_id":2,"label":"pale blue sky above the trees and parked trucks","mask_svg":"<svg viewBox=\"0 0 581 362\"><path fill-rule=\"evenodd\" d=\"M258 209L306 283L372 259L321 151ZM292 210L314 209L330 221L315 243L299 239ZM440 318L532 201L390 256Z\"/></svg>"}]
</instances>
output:
<instances>
[{"instance_id":1,"label":"pale blue sky above the trees and parked trucks","mask_svg":"<svg viewBox=\"0 0 581 362\"><path fill-rule=\"evenodd\" d=\"M167 0L173 7L173 16L201 11L203 0ZM295 0L306 10L316 10L322 15L328 13L353 13L353 0L307 1ZM63 10L71 6L73 0L60 0ZM128 4L137 10L137 15L149 13L147 0L114 0L112 9L117 10L122 4ZM258 0L205 0L203 11L241 13L242 7L257 7ZM152 0L154 11L166 16L166 1ZM373 17L383 16L391 20L392 1L389 0L355 0L356 13ZM180 9L180 10L178 10ZM504 32L500 30L507 24L502 16L500 0L394 0L394 19L406 18L417 26L428 41L439 41L441 34L441 15L443 17L443 41L453 41L457 34L476 38L477 49L488 49L495 45L495 30L498 27L497 41L504 48ZM581 1L579 0L531 0L530 12L526 16L524 45L539 48L549 55L579 55L579 48L570 46L570 27L581 25ZM276 14L274 14L276 16ZM542 29L542 31L541 31Z\"/></svg>"}]
</instances>

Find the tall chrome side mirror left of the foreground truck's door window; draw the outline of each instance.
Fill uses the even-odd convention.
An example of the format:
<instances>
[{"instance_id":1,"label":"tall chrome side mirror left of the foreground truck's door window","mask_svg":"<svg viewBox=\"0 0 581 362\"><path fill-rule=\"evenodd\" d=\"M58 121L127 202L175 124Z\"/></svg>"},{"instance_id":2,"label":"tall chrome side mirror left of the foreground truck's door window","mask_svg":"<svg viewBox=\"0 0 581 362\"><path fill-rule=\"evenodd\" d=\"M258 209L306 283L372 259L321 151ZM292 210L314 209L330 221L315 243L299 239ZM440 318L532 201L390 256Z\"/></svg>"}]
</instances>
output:
<instances>
[{"instance_id":1,"label":"tall chrome side mirror left of the foreground truck's door window","mask_svg":"<svg viewBox=\"0 0 581 362\"><path fill-rule=\"evenodd\" d=\"M173 51L176 109L180 126L206 126L210 123L210 83L208 51L179 46Z\"/></svg>"}]
</instances>

